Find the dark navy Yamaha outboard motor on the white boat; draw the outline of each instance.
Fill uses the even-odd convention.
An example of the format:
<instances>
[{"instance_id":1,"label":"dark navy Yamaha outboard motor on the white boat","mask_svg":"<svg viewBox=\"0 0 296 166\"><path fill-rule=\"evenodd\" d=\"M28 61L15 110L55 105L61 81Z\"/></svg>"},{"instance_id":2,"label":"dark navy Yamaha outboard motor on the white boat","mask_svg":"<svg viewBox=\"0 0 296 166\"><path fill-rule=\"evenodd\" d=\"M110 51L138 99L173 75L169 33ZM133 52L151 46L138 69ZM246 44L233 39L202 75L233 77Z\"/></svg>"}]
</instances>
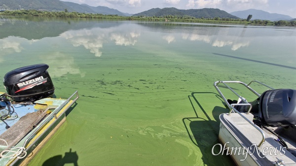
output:
<instances>
[{"instance_id":1,"label":"dark navy Yamaha outboard motor on the white boat","mask_svg":"<svg viewBox=\"0 0 296 166\"><path fill-rule=\"evenodd\" d=\"M269 126L296 125L296 90L265 91L259 99L259 113Z\"/></svg>"}]
</instances>

